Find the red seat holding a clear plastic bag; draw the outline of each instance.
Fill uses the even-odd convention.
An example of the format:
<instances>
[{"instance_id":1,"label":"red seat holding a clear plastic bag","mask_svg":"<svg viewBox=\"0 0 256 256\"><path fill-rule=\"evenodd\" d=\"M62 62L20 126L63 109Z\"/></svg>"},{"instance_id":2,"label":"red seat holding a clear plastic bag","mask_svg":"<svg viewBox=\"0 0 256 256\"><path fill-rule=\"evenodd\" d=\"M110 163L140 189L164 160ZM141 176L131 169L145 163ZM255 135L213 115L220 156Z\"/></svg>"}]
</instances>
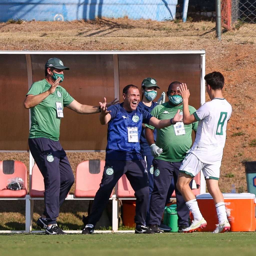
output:
<instances>
[{"instance_id":1,"label":"red seat holding a clear plastic bag","mask_svg":"<svg viewBox=\"0 0 256 256\"><path fill-rule=\"evenodd\" d=\"M24 180L24 189L10 190L6 189L8 179L20 177ZM19 161L0 161L0 197L25 197L28 190L27 168L25 164Z\"/></svg>"}]
</instances>

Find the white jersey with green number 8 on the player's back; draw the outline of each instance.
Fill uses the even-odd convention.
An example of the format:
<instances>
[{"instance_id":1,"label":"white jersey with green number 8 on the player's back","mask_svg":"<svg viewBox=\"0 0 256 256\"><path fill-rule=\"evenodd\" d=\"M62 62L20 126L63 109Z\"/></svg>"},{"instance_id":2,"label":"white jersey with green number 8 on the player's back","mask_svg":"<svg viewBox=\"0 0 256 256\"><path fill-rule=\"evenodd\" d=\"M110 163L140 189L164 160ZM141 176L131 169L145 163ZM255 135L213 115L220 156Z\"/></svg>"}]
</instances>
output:
<instances>
[{"instance_id":1,"label":"white jersey with green number 8 on the player's back","mask_svg":"<svg viewBox=\"0 0 256 256\"><path fill-rule=\"evenodd\" d=\"M221 161L231 113L232 106L224 98L214 98L194 113L199 123L195 142L189 152L202 163Z\"/></svg>"}]
</instances>

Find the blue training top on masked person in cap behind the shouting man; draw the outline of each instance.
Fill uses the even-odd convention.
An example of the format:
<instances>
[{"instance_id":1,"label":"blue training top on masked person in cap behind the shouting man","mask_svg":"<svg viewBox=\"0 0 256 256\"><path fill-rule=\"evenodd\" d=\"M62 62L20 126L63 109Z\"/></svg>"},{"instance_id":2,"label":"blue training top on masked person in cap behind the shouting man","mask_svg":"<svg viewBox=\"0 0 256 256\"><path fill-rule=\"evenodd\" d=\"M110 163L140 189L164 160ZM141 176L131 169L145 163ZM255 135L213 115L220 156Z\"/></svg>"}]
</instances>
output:
<instances>
[{"instance_id":1,"label":"blue training top on masked person in cap behind the shouting man","mask_svg":"<svg viewBox=\"0 0 256 256\"><path fill-rule=\"evenodd\" d=\"M146 110L148 113L150 113L155 106L157 106L157 102L153 102L150 107L146 106L143 102L139 102L138 107ZM156 141L156 134L157 130L154 130L154 140ZM140 137L140 145L141 145L141 154L142 156L151 156L151 150L150 150L150 145L148 145L146 137L145 137L145 128L142 127L141 130L141 137Z\"/></svg>"}]
</instances>

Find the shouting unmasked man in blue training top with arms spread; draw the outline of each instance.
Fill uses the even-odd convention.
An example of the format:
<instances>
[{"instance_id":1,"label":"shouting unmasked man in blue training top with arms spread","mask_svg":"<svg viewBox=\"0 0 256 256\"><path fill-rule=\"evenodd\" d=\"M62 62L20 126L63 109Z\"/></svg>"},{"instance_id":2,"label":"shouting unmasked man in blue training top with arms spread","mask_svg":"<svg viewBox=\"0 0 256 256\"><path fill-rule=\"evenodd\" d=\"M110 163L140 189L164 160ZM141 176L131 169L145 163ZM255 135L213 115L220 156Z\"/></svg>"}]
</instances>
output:
<instances>
[{"instance_id":1,"label":"shouting unmasked man in blue training top with arms spread","mask_svg":"<svg viewBox=\"0 0 256 256\"><path fill-rule=\"evenodd\" d=\"M94 232L95 224L100 219L115 184L123 174L135 191L135 233L154 233L145 226L149 190L146 163L140 154L139 138L142 123L161 129L181 121L182 115L179 115L178 111L174 118L160 121L144 109L137 108L140 91L133 84L124 87L123 99L123 103L108 109L105 98L103 103L100 102L100 123L102 125L108 123L106 163L100 188L95 195L91 214L88 216L88 224L84 227L82 234Z\"/></svg>"}]
</instances>

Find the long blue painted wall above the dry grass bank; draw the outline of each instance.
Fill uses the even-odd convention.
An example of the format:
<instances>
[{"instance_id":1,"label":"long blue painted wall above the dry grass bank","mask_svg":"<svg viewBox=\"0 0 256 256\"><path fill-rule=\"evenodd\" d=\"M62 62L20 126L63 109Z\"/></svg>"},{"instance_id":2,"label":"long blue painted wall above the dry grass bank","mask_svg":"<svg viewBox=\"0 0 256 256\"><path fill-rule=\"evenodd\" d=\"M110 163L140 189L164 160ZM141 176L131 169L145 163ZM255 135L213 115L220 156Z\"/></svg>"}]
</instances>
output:
<instances>
[{"instance_id":1,"label":"long blue painted wall above the dry grass bank","mask_svg":"<svg viewBox=\"0 0 256 256\"><path fill-rule=\"evenodd\" d=\"M0 0L0 22L9 19L76 20L95 17L175 18L178 0Z\"/></svg>"}]
</instances>

